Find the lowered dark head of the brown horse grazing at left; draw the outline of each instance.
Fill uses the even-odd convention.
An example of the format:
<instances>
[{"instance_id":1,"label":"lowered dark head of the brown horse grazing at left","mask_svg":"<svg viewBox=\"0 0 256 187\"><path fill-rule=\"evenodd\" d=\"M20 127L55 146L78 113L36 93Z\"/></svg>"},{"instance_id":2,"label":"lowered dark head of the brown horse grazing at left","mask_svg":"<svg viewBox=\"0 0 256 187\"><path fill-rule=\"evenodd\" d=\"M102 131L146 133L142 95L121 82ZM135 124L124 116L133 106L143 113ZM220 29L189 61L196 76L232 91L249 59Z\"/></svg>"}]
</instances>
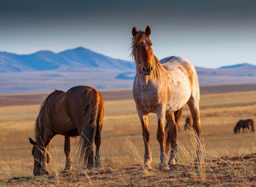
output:
<instances>
[{"instance_id":1,"label":"lowered dark head of the brown horse grazing at left","mask_svg":"<svg viewBox=\"0 0 256 187\"><path fill-rule=\"evenodd\" d=\"M28 139L29 139L29 142L33 145L33 148L32 148L32 155L34 156L33 174L34 174L34 176L37 176L37 175L40 175L42 153L36 146L36 142L34 140L32 140L31 138L28 138Z\"/></svg>"}]
</instances>

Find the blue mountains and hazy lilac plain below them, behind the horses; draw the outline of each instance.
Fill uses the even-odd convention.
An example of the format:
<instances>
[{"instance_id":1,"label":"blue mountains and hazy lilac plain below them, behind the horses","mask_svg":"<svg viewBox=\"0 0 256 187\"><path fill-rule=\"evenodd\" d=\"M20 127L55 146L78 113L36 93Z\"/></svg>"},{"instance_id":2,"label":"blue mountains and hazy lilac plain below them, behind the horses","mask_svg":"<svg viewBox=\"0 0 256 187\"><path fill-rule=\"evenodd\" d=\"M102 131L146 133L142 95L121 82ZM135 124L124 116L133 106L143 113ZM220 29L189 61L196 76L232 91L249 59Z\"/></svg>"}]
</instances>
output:
<instances>
[{"instance_id":1,"label":"blue mountains and hazy lilac plain below them, behind the horses","mask_svg":"<svg viewBox=\"0 0 256 187\"><path fill-rule=\"evenodd\" d=\"M256 83L256 66L248 63L217 69L195 68L201 86ZM77 85L132 88L135 74L133 62L82 47L29 55L0 52L0 94L49 93L52 88L68 90Z\"/></svg>"}]
</instances>

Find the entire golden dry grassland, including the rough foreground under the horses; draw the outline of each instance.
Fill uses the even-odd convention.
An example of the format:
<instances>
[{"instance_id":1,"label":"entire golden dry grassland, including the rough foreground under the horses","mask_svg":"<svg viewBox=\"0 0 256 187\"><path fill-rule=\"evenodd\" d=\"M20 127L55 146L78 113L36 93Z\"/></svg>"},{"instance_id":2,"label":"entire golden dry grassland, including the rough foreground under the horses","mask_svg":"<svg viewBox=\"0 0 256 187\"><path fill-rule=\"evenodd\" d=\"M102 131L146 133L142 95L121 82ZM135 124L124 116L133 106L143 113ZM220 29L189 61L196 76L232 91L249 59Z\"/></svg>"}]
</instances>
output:
<instances>
[{"instance_id":1,"label":"entire golden dry grassland, including the rough foreground under the horses","mask_svg":"<svg viewBox=\"0 0 256 187\"><path fill-rule=\"evenodd\" d=\"M235 135L233 131L240 119L252 118L256 121L256 91L201 95L200 114L206 161L203 166L194 163L193 133L183 128L185 118L189 116L189 109L185 106L177 135L179 164L169 171L157 170L160 151L156 140L156 115L149 115L153 169L139 171L144 143L135 102L111 100L105 102L100 146L102 167L86 170L77 165L72 140L73 170L60 173L65 167L64 137L57 135L50 144L50 175L34 177L32 146L28 137L34 137L33 127L39 107L38 104L0 107L0 185L256 185L256 178L253 178L256 176L256 166L253 167L256 165L256 132L246 131ZM247 157L241 156L244 154Z\"/></svg>"}]
</instances>

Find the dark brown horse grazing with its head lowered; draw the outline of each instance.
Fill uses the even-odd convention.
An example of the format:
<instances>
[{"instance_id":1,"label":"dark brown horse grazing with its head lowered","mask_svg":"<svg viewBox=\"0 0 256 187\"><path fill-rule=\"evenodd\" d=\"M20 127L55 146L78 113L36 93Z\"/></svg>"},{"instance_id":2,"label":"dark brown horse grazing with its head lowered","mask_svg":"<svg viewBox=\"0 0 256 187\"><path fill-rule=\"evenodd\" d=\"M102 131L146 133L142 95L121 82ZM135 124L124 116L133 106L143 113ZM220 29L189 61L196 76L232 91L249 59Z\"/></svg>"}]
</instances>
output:
<instances>
[{"instance_id":1,"label":"dark brown horse grazing with its head lowered","mask_svg":"<svg viewBox=\"0 0 256 187\"><path fill-rule=\"evenodd\" d=\"M75 86L67 92L55 90L48 95L36 118L36 142L29 138L33 145L34 175L48 173L46 164L49 162L49 143L56 134L65 136L66 170L71 169L71 137L78 135L80 135L77 141L80 161L83 161L83 164L87 162L88 168L99 166L104 106L100 92L90 86ZM93 141L96 145L95 160Z\"/></svg>"}]
</instances>

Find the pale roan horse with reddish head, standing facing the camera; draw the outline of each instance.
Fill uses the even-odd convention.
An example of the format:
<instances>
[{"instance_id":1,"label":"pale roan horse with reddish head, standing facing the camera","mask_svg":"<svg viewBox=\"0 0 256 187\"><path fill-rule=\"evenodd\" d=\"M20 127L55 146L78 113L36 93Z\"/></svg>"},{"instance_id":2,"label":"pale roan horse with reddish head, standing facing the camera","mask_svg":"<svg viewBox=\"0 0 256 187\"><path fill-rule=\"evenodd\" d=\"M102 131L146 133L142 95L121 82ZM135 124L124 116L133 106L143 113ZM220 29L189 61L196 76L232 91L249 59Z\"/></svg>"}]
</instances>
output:
<instances>
[{"instance_id":1,"label":"pale roan horse with reddish head, standing facing the camera","mask_svg":"<svg viewBox=\"0 0 256 187\"><path fill-rule=\"evenodd\" d=\"M152 42L149 39L150 27L145 32L132 28L131 56L136 65L133 82L133 97L142 125L145 153L144 165L151 168L151 150L149 146L150 131L148 113L156 113L157 140L160 144L159 170L168 170L178 160L177 127L183 106L187 103L193 118L193 127L197 135L197 161L203 162L201 149L201 121L199 114L199 83L194 66L186 59L171 56L161 63L153 54ZM164 123L168 126L164 132ZM167 163L167 152L170 149L170 160ZM164 150L165 146L165 150Z\"/></svg>"}]
</instances>

